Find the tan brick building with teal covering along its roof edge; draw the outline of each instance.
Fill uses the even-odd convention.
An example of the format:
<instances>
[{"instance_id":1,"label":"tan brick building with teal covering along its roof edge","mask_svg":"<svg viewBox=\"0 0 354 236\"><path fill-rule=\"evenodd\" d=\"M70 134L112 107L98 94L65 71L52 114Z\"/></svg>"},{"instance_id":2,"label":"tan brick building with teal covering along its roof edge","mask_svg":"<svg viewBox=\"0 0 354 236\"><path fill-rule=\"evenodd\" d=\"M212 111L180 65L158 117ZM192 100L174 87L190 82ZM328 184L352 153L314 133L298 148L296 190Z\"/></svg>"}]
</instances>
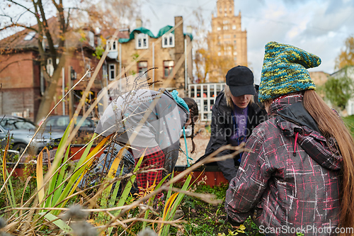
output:
<instances>
[{"instance_id":1,"label":"tan brick building with teal covering along its roof edge","mask_svg":"<svg viewBox=\"0 0 354 236\"><path fill-rule=\"evenodd\" d=\"M188 32L183 33L183 18L181 16L175 17L175 26L177 27L172 31L172 26L165 26L155 36L149 29L142 27L142 21L137 20L137 28L132 32L125 30L129 33L129 37L120 37L119 40L113 42L113 46L109 49L108 57L110 59L107 60L106 67L108 81L113 81L121 73L124 77L124 73L132 75L157 67L158 69L147 72L147 77L152 78L151 82L164 82L173 69L176 69L175 77L169 84L165 84L165 87L166 89L177 89L180 96L184 96L185 90L188 89L188 81L193 78L191 47L187 46L191 44L193 37L189 27L187 27ZM110 40L107 40L107 45L108 43ZM136 61L136 58L142 54L144 56ZM181 57L183 57L182 64L176 68ZM134 65L125 70L132 63ZM162 84L154 84L150 89L157 90Z\"/></svg>"}]
</instances>

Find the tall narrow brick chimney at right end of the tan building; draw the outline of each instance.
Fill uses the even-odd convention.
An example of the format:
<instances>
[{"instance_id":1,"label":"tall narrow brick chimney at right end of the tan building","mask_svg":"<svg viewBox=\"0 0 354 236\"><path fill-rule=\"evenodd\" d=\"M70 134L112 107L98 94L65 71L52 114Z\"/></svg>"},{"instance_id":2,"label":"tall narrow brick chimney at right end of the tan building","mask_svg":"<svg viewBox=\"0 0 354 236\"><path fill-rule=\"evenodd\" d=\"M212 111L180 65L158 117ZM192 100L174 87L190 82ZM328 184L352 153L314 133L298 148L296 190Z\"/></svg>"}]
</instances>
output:
<instances>
[{"instance_id":1,"label":"tall narrow brick chimney at right end of the tan building","mask_svg":"<svg viewBox=\"0 0 354 236\"><path fill-rule=\"evenodd\" d=\"M183 35L183 18L175 16L175 66L183 57L181 67L176 68L176 89L181 97L184 96L184 35Z\"/></svg>"}]
</instances>

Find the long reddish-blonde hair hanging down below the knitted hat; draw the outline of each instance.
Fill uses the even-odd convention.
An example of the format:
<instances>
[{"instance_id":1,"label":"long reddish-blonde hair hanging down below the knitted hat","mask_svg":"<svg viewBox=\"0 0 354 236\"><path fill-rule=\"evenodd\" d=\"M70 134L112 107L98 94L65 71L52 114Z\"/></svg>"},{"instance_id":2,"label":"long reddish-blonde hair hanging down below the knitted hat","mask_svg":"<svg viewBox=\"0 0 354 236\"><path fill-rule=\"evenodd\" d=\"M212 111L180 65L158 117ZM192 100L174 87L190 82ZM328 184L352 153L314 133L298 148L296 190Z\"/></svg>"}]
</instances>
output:
<instances>
[{"instance_id":1,"label":"long reddish-blonde hair hanging down below the knitted hat","mask_svg":"<svg viewBox=\"0 0 354 236\"><path fill-rule=\"evenodd\" d=\"M324 137L333 137L343 157L341 190L341 227L354 226L354 141L348 128L314 90L304 92L304 108L319 125ZM350 234L348 234L350 235Z\"/></svg>"}]
</instances>

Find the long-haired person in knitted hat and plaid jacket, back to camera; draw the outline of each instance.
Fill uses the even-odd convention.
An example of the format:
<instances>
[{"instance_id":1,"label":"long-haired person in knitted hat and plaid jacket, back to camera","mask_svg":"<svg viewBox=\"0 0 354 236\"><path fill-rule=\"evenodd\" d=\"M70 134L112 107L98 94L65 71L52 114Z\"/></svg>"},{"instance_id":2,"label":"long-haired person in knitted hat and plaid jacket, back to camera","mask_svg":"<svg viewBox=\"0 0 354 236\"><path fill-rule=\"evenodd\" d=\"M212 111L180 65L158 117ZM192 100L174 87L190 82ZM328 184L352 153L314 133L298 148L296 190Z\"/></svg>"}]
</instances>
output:
<instances>
[{"instance_id":1,"label":"long-haired person in knitted hat and plaid jacket, back to camera","mask_svg":"<svg viewBox=\"0 0 354 236\"><path fill-rule=\"evenodd\" d=\"M320 63L292 45L265 45L259 101L269 120L253 130L246 142L250 152L227 190L233 225L251 215L266 235L353 230L354 142L314 91L307 69Z\"/></svg>"}]
</instances>

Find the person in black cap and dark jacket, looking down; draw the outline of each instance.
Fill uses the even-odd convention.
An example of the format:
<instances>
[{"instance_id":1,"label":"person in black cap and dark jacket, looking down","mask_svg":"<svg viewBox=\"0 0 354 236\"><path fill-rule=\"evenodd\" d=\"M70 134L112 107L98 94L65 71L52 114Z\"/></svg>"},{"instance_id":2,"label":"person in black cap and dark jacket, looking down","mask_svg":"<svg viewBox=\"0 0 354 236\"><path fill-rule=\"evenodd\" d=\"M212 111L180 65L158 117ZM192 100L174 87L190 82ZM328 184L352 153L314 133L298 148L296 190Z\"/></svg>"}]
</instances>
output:
<instances>
[{"instance_id":1,"label":"person in black cap and dark jacket, looking down","mask_svg":"<svg viewBox=\"0 0 354 236\"><path fill-rule=\"evenodd\" d=\"M225 89L217 95L212 107L211 135L203 157L224 145L238 146L246 142L253 128L266 120L267 113L260 104L254 102L255 96L253 73L249 68L237 66L227 72ZM230 150L224 150L217 156L226 154L230 154ZM236 176L236 166L240 160L241 154L234 159L217 162L229 182Z\"/></svg>"}]
</instances>

